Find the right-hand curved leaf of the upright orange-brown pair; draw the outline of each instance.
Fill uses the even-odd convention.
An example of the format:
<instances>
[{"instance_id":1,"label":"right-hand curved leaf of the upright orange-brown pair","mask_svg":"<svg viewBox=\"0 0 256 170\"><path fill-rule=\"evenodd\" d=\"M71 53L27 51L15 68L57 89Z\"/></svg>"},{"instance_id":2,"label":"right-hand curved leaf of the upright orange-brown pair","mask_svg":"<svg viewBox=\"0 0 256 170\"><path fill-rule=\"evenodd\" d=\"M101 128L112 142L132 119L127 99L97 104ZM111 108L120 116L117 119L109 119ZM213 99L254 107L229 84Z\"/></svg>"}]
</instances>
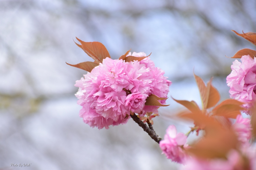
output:
<instances>
[{"instance_id":1,"label":"right-hand curved leaf of the upright orange-brown pair","mask_svg":"<svg viewBox=\"0 0 256 170\"><path fill-rule=\"evenodd\" d=\"M215 106L220 100L219 91L212 86L211 84L212 79L207 83L207 95L208 95L208 102L205 109L211 108Z\"/></svg>"}]
</instances>

